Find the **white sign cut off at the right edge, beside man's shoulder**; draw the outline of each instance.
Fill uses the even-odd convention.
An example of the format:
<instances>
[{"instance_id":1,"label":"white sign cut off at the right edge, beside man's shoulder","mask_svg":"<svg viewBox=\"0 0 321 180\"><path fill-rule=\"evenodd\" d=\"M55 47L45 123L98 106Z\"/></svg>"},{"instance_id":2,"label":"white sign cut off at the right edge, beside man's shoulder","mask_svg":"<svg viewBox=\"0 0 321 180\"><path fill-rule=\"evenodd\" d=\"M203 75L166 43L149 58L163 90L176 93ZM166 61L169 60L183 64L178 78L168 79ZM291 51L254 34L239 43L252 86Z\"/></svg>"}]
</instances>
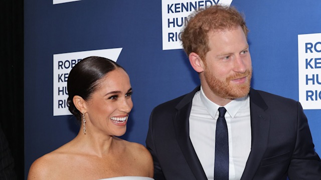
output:
<instances>
[{"instance_id":1,"label":"white sign cut off at the right edge, beside man's shoulder","mask_svg":"<svg viewBox=\"0 0 321 180\"><path fill-rule=\"evenodd\" d=\"M321 109L321 33L299 34L299 101L303 109Z\"/></svg>"}]
</instances>

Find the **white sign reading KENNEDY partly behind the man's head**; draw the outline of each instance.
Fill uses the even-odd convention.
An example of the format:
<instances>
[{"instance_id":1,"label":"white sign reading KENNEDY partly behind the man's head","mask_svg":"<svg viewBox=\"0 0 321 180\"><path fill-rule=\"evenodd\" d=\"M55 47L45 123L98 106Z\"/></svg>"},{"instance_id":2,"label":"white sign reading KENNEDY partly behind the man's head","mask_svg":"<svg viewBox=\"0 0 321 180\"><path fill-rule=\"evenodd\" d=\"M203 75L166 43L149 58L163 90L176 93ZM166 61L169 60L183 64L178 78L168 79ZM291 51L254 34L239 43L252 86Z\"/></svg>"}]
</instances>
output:
<instances>
[{"instance_id":1,"label":"white sign reading KENNEDY partly behind the man's head","mask_svg":"<svg viewBox=\"0 0 321 180\"><path fill-rule=\"evenodd\" d=\"M232 0L162 0L163 50L181 49L181 29L189 14L210 5L231 5Z\"/></svg>"}]
</instances>

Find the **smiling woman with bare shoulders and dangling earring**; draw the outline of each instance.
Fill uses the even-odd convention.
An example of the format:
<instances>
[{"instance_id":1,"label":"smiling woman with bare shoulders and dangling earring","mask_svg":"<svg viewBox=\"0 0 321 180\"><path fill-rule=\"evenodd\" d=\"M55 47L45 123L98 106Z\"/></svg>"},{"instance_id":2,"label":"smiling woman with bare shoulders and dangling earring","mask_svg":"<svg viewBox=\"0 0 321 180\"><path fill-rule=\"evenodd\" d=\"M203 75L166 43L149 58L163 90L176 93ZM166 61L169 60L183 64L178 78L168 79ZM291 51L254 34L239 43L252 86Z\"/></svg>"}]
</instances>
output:
<instances>
[{"instance_id":1,"label":"smiling woman with bare shoulders and dangling earring","mask_svg":"<svg viewBox=\"0 0 321 180\"><path fill-rule=\"evenodd\" d=\"M37 159L28 179L150 179L149 151L116 137L125 133L133 106L125 70L112 60L87 57L70 71L67 89L69 110L81 122L78 135Z\"/></svg>"}]
</instances>

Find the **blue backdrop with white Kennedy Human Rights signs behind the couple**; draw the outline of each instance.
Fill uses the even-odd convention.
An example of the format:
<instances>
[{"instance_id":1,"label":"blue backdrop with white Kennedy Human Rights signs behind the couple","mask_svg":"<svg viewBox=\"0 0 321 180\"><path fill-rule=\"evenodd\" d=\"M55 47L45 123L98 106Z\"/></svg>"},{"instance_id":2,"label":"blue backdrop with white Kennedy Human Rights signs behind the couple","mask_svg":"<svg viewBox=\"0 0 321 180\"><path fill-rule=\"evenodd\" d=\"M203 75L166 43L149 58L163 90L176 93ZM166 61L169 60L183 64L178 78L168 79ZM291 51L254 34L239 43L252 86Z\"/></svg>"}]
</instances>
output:
<instances>
[{"instance_id":1,"label":"blue backdrop with white Kennedy Human Rights signs behind the couple","mask_svg":"<svg viewBox=\"0 0 321 180\"><path fill-rule=\"evenodd\" d=\"M122 138L145 144L154 106L198 85L180 43L195 8L218 3L245 14L252 87L301 102L321 154L321 1L25 0L25 169L74 138L66 104L70 69L97 55L130 76L134 107ZM166 133L166 132L165 132Z\"/></svg>"}]
</instances>

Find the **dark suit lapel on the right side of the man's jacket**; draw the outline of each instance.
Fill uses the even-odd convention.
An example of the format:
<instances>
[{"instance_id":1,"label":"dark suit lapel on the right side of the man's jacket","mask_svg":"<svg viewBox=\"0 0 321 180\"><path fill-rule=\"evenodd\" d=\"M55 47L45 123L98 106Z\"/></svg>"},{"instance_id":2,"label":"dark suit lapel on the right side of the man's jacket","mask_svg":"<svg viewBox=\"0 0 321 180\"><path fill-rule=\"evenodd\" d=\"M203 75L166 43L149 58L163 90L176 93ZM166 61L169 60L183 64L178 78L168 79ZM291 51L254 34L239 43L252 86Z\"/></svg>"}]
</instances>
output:
<instances>
[{"instance_id":1,"label":"dark suit lapel on the right side of the man's jacket","mask_svg":"<svg viewBox=\"0 0 321 180\"><path fill-rule=\"evenodd\" d=\"M252 145L241 180L253 179L267 146L270 127L270 115L265 111L268 106L263 98L254 89L250 90L249 95Z\"/></svg>"}]
</instances>

